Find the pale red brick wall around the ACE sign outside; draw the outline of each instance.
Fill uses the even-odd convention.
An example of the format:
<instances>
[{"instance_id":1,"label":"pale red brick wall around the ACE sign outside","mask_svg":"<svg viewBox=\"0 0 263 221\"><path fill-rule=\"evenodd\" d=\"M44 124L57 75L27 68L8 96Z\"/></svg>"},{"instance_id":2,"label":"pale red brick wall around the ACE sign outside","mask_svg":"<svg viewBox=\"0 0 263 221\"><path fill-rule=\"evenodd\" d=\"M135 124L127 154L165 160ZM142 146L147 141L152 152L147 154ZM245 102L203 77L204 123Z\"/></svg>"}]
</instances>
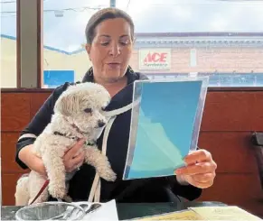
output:
<instances>
[{"instance_id":1,"label":"pale red brick wall around the ACE sign outside","mask_svg":"<svg viewBox=\"0 0 263 221\"><path fill-rule=\"evenodd\" d=\"M169 70L143 70L158 72L263 72L263 48L196 48L196 66L190 66L192 48L172 50L172 64ZM135 50L130 65L139 70L139 53Z\"/></svg>"}]
</instances>

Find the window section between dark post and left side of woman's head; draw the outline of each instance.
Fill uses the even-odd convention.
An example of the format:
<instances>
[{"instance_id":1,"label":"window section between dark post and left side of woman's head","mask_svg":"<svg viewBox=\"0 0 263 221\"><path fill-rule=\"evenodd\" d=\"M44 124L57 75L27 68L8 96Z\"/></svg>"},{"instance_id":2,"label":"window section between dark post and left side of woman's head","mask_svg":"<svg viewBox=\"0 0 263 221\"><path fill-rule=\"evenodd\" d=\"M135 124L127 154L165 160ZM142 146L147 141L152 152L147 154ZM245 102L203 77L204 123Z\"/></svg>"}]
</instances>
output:
<instances>
[{"instance_id":1,"label":"window section between dark post and left side of woman's head","mask_svg":"<svg viewBox=\"0 0 263 221\"><path fill-rule=\"evenodd\" d=\"M80 81L90 67L85 51L85 27L89 17L109 0L43 2L42 87L57 87L65 81Z\"/></svg>"}]
</instances>

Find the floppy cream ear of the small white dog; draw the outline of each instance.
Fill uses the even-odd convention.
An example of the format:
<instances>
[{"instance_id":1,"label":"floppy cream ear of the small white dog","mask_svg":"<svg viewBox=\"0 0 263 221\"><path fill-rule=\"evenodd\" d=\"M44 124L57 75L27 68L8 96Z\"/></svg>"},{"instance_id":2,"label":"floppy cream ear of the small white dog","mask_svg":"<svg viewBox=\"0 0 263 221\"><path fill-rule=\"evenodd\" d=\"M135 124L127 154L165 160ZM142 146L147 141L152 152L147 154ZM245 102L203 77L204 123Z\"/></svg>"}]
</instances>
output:
<instances>
[{"instance_id":1,"label":"floppy cream ear of the small white dog","mask_svg":"<svg viewBox=\"0 0 263 221\"><path fill-rule=\"evenodd\" d=\"M54 106L55 113L70 116L74 115L80 109L79 97L75 93L64 93L58 98Z\"/></svg>"}]
</instances>

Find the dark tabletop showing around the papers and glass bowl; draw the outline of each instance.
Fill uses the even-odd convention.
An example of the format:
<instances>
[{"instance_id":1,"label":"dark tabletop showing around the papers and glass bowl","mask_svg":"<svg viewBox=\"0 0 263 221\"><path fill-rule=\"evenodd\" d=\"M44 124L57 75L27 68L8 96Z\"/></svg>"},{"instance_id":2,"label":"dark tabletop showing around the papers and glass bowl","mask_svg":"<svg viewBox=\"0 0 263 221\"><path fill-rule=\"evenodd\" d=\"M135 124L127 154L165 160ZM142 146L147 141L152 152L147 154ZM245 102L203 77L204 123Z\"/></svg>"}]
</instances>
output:
<instances>
[{"instance_id":1,"label":"dark tabletop showing around the papers and glass bowl","mask_svg":"<svg viewBox=\"0 0 263 221\"><path fill-rule=\"evenodd\" d=\"M226 206L221 202L184 202L184 203L121 203L117 204L119 220L131 219L140 216L153 216L162 213L183 210L187 207ZM1 211L1 220L15 220L15 212L21 207L4 206Z\"/></svg>"}]
</instances>

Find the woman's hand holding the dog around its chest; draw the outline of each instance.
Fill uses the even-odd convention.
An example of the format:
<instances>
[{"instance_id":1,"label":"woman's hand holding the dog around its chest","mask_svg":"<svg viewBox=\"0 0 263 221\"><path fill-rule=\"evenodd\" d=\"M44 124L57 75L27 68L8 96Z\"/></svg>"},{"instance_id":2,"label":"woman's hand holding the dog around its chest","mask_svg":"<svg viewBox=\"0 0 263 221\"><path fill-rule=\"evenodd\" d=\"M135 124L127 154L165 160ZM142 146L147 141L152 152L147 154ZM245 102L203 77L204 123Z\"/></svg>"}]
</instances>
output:
<instances>
[{"instance_id":1,"label":"woman's hand holding the dog around its chest","mask_svg":"<svg viewBox=\"0 0 263 221\"><path fill-rule=\"evenodd\" d=\"M85 160L85 152L82 149L83 143L84 140L80 140L65 153L63 161L67 172L79 169L83 164L83 161Z\"/></svg>"}]
</instances>

